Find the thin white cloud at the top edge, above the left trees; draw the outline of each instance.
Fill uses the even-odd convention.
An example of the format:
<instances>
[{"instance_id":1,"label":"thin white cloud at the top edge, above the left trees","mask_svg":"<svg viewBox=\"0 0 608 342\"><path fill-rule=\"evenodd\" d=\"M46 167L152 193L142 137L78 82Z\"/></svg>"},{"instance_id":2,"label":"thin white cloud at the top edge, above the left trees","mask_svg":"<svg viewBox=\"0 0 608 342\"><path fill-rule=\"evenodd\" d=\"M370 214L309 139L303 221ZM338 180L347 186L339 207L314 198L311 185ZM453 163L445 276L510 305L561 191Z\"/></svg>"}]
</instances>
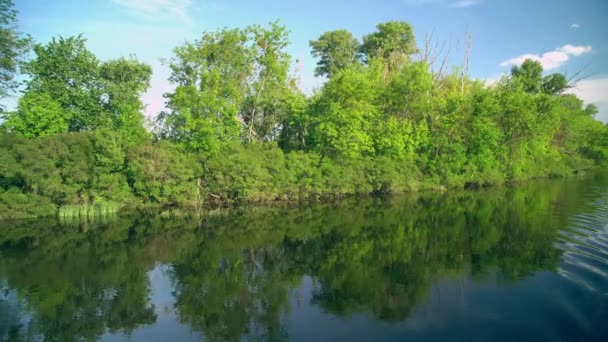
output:
<instances>
[{"instance_id":1,"label":"thin white cloud at the top edge, above the left trees","mask_svg":"<svg viewBox=\"0 0 608 342\"><path fill-rule=\"evenodd\" d=\"M166 17L190 21L192 0L112 0L123 9L151 19Z\"/></svg>"}]
</instances>

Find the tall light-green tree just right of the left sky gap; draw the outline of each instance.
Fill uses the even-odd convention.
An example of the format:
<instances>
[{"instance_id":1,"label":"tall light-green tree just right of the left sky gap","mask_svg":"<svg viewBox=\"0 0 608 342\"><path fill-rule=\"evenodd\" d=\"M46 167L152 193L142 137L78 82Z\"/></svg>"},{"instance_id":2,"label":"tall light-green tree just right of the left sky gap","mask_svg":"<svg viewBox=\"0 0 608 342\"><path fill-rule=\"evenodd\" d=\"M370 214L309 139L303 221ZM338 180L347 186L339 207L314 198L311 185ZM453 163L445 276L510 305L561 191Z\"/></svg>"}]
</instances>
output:
<instances>
[{"instance_id":1,"label":"tall light-green tree just right of the left sky gap","mask_svg":"<svg viewBox=\"0 0 608 342\"><path fill-rule=\"evenodd\" d=\"M223 29L174 50L168 64L176 88L165 95L169 111L158 122L166 136L208 153L239 140L237 115L253 66L247 41L246 31Z\"/></svg>"}]
</instances>

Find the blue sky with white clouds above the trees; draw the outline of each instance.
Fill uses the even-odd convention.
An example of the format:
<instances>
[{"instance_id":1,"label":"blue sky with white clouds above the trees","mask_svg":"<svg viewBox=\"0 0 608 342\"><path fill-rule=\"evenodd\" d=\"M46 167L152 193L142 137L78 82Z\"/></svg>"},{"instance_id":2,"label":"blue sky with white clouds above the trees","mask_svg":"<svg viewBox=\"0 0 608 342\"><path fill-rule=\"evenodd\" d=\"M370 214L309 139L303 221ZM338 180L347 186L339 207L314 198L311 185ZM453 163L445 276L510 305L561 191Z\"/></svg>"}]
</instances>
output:
<instances>
[{"instance_id":1,"label":"blue sky with white clouds above the trees","mask_svg":"<svg viewBox=\"0 0 608 342\"><path fill-rule=\"evenodd\" d=\"M307 93L323 84L308 42L323 32L347 29L361 38L378 23L402 20L418 45L432 34L451 46L449 62L462 64L471 34L470 74L493 82L526 58L547 73L577 75L571 91L600 109L608 122L608 0L15 0L19 29L37 42L83 34L101 60L136 56L152 65L146 115L164 108L171 91L161 62L204 31L279 20L290 31L293 72ZM446 51L444 49L443 51ZM296 60L298 61L296 63ZM579 78L577 77L577 78Z\"/></svg>"}]
</instances>

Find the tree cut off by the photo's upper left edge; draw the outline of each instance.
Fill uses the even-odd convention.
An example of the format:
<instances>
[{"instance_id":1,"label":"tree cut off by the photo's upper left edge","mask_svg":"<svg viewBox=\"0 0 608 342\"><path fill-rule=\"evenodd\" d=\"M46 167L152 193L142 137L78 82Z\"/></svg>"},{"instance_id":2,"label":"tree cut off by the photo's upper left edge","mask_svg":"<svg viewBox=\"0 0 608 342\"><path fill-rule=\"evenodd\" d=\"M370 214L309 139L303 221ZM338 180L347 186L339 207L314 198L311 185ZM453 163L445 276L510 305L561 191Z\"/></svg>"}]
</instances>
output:
<instances>
[{"instance_id":1,"label":"tree cut off by the photo's upper left edge","mask_svg":"<svg viewBox=\"0 0 608 342\"><path fill-rule=\"evenodd\" d=\"M0 0L0 99L17 87L14 78L31 43L30 37L17 31L17 11L13 7L12 0Z\"/></svg>"}]
</instances>

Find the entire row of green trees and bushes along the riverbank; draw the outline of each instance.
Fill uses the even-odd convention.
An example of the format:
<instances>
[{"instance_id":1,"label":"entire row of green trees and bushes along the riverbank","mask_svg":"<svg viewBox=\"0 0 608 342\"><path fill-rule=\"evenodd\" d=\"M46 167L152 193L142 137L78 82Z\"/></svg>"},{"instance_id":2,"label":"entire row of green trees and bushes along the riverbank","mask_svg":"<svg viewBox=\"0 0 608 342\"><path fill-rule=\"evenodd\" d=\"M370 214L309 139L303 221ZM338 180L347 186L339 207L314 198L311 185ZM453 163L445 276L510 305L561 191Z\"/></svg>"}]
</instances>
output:
<instances>
[{"instance_id":1,"label":"entire row of green trees and bushes along the riverbank","mask_svg":"<svg viewBox=\"0 0 608 342\"><path fill-rule=\"evenodd\" d=\"M11 13L2 44L25 51ZM150 66L99 61L81 36L15 53L5 74L20 64L26 81L2 113L0 216L484 186L608 160L597 108L537 62L494 85L434 73L412 27L388 22L362 42L345 30L311 41L327 82L306 96L288 44L275 22L177 47L175 89L147 128Z\"/></svg>"}]
</instances>

